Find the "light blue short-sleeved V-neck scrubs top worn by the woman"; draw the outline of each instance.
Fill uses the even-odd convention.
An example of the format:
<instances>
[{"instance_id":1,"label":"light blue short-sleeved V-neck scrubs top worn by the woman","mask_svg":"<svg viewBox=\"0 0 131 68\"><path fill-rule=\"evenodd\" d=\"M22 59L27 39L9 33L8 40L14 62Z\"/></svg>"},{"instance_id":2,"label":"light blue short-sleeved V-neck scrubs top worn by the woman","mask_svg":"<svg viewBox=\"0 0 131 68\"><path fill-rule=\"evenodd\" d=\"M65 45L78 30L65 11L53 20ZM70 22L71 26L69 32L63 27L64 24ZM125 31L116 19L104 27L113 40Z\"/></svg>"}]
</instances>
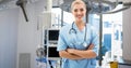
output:
<instances>
[{"instance_id":1,"label":"light blue short-sleeved V-neck scrubs top worn by the woman","mask_svg":"<svg viewBox=\"0 0 131 68\"><path fill-rule=\"evenodd\" d=\"M97 31L92 28L90 24L86 24L86 46L82 45L85 37L85 28L79 30L75 23L73 24L73 29L76 31L71 31L72 25L63 26L59 32L59 40L57 51L63 51L68 47L76 50L86 50L90 43L94 44L93 51L98 55L98 35ZM95 68L96 58L83 58L83 59L69 59L62 58L62 68Z\"/></svg>"}]
</instances>

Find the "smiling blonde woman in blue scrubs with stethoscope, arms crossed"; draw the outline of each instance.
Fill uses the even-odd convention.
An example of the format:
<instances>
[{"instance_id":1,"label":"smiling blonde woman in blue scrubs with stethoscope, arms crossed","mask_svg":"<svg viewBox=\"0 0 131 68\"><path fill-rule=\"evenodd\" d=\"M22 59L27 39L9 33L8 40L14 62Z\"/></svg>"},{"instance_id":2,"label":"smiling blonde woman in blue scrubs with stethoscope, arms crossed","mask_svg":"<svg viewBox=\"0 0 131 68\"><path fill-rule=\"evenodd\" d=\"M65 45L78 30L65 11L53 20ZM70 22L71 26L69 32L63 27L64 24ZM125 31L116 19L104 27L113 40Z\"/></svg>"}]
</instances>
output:
<instances>
[{"instance_id":1,"label":"smiling blonde woman in blue scrubs with stethoscope, arms crossed","mask_svg":"<svg viewBox=\"0 0 131 68\"><path fill-rule=\"evenodd\" d=\"M86 11L84 1L74 0L71 4L73 24L66 25L60 30L57 51L62 57L62 68L96 67L98 36L90 23L83 19Z\"/></svg>"}]
</instances>

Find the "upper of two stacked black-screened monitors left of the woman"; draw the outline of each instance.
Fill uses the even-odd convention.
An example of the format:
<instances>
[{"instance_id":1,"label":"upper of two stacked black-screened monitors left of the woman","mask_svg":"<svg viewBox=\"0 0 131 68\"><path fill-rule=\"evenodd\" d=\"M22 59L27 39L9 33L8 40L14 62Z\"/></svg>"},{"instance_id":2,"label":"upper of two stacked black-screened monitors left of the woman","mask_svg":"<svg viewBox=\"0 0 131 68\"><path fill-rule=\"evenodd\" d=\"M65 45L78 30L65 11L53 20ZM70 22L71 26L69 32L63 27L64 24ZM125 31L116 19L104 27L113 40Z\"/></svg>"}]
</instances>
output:
<instances>
[{"instance_id":1,"label":"upper of two stacked black-screened monitors left of the woman","mask_svg":"<svg viewBox=\"0 0 131 68\"><path fill-rule=\"evenodd\" d=\"M57 44L59 37L59 29L48 29L48 42Z\"/></svg>"}]
</instances>

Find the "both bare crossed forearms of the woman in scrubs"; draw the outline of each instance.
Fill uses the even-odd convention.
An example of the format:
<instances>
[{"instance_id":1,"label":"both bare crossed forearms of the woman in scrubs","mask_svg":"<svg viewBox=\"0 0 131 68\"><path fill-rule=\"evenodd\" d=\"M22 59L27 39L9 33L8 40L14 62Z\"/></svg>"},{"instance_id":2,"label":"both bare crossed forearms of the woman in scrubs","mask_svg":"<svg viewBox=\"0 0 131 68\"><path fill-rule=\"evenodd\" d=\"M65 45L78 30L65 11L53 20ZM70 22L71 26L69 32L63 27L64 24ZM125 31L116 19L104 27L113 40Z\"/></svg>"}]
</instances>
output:
<instances>
[{"instance_id":1,"label":"both bare crossed forearms of the woman in scrubs","mask_svg":"<svg viewBox=\"0 0 131 68\"><path fill-rule=\"evenodd\" d=\"M93 52L93 47L94 44L91 44L87 50L67 49L66 51L60 51L59 55L70 59L94 58L96 53Z\"/></svg>"}]
</instances>

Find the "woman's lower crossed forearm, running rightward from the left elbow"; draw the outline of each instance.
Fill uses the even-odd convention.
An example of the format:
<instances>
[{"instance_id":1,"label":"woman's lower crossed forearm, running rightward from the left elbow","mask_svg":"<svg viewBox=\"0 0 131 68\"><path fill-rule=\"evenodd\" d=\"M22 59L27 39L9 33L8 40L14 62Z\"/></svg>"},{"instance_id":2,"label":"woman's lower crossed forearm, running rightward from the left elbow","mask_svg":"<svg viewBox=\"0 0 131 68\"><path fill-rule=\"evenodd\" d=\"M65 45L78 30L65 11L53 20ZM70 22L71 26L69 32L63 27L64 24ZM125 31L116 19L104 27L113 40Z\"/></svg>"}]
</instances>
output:
<instances>
[{"instance_id":1,"label":"woman's lower crossed forearm, running rightward from the left elbow","mask_svg":"<svg viewBox=\"0 0 131 68\"><path fill-rule=\"evenodd\" d=\"M70 54L67 51L60 51L59 52L60 57L69 58L69 59L82 59L81 56L78 56L75 54Z\"/></svg>"}]
</instances>

